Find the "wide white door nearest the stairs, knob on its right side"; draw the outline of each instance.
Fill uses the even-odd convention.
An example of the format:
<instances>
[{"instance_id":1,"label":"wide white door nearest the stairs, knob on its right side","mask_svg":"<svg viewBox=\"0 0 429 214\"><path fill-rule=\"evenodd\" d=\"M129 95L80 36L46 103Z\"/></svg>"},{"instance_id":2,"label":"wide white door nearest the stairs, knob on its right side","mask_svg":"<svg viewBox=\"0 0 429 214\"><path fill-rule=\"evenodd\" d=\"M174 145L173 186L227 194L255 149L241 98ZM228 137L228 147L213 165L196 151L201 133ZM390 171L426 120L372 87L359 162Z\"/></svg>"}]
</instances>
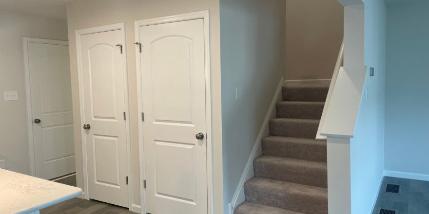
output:
<instances>
[{"instance_id":1,"label":"wide white door nearest the stairs, knob on its right side","mask_svg":"<svg viewBox=\"0 0 429 214\"><path fill-rule=\"evenodd\" d=\"M140 27L146 212L207 213L204 21Z\"/></svg>"}]
</instances>

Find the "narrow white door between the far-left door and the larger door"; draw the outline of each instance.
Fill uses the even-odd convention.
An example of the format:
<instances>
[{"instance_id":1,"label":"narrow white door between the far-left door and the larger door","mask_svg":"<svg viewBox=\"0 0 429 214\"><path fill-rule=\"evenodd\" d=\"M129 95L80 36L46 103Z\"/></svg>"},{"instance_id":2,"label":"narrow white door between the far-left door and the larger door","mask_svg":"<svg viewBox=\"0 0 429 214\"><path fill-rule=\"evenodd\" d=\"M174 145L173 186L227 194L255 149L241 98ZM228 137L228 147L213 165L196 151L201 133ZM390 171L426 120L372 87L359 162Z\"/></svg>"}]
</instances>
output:
<instances>
[{"instance_id":1,"label":"narrow white door between the far-left door and the larger door","mask_svg":"<svg viewBox=\"0 0 429 214\"><path fill-rule=\"evenodd\" d=\"M129 207L121 38L121 30L80 36L80 54L89 197Z\"/></svg>"}]
</instances>

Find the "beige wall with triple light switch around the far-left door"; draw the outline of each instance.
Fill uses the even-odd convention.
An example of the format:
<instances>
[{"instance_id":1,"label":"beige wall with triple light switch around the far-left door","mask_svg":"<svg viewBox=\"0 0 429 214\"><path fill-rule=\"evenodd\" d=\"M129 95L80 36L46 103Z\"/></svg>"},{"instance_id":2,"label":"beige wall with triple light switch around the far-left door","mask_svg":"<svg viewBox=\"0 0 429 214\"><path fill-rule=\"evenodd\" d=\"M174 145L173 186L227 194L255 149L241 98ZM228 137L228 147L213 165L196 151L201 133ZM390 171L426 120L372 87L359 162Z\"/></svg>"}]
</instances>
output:
<instances>
[{"instance_id":1,"label":"beige wall with triple light switch around the far-left door","mask_svg":"<svg viewBox=\"0 0 429 214\"><path fill-rule=\"evenodd\" d=\"M67 41L67 21L0 10L0 160L30 175L22 37ZM4 101L3 91L18 91L18 100Z\"/></svg>"}]
</instances>

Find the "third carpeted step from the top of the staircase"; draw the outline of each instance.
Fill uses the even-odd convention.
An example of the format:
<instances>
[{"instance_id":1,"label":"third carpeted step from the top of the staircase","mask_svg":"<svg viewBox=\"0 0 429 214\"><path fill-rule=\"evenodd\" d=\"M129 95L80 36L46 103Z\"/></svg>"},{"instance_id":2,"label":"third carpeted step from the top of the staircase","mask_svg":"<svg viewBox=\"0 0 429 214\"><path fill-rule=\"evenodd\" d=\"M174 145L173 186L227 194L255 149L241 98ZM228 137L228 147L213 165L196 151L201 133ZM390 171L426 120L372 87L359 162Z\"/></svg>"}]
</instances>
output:
<instances>
[{"instance_id":1,"label":"third carpeted step from the top of the staircase","mask_svg":"<svg viewBox=\"0 0 429 214\"><path fill-rule=\"evenodd\" d=\"M270 135L315 139L320 120L273 118L269 122Z\"/></svg>"}]
</instances>

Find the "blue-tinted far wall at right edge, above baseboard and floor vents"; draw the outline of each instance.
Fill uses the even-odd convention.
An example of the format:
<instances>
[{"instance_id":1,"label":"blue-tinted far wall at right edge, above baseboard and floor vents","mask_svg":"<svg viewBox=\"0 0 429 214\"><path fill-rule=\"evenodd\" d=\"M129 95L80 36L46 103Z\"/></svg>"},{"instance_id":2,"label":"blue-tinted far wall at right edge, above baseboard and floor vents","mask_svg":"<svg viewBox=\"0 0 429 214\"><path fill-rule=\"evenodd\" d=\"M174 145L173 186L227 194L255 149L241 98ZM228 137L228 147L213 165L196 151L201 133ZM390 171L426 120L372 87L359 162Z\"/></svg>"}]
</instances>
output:
<instances>
[{"instance_id":1,"label":"blue-tinted far wall at right edge, above baseboard and floor vents","mask_svg":"<svg viewBox=\"0 0 429 214\"><path fill-rule=\"evenodd\" d=\"M385 169L429 175L429 2L388 7Z\"/></svg>"}]
</instances>

